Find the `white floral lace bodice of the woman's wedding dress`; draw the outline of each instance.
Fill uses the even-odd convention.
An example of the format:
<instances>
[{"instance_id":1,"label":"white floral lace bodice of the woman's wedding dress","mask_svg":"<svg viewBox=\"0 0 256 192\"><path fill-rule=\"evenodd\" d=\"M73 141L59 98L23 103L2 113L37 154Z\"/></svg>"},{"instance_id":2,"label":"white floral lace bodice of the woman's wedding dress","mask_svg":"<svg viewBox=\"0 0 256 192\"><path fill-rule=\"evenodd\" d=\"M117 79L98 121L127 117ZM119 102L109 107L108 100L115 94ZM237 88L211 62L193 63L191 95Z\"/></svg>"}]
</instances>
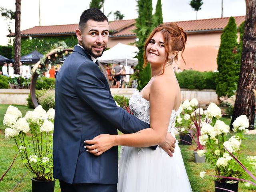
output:
<instances>
[{"instance_id":1,"label":"white floral lace bodice of the woman's wedding dress","mask_svg":"<svg viewBox=\"0 0 256 192\"><path fill-rule=\"evenodd\" d=\"M138 119L147 122L150 124L150 102L140 95L138 90L134 91L132 97L129 100L129 105L131 112ZM168 132L170 132L174 136L174 126L176 120L177 112L172 110L172 115L170 117L170 122L168 125ZM175 136L174 136L175 137Z\"/></svg>"}]
</instances>

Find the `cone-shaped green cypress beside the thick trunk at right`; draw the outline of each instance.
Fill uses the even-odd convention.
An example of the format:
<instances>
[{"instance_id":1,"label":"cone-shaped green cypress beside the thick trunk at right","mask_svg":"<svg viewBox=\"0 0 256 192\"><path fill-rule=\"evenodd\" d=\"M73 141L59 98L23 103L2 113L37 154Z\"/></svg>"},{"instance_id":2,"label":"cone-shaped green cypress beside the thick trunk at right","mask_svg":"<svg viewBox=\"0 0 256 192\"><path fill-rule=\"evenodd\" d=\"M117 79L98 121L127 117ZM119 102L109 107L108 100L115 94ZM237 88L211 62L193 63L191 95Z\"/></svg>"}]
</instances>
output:
<instances>
[{"instance_id":1,"label":"cone-shaped green cypress beside the thick trunk at right","mask_svg":"<svg viewBox=\"0 0 256 192\"><path fill-rule=\"evenodd\" d=\"M216 78L216 93L219 97L232 96L237 88L240 64L238 62L236 34L235 19L230 17L220 37L220 48L217 57L219 72Z\"/></svg>"}]
</instances>

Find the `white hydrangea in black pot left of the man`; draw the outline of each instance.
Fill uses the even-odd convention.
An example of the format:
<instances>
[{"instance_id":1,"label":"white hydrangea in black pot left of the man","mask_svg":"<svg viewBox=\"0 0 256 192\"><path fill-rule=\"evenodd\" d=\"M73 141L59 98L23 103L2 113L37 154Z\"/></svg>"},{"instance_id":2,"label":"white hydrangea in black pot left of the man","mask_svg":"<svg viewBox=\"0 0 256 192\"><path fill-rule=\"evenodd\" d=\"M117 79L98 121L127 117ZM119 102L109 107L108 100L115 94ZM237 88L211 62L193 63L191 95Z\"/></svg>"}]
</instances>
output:
<instances>
[{"instance_id":1,"label":"white hydrangea in black pot left of the man","mask_svg":"<svg viewBox=\"0 0 256 192\"><path fill-rule=\"evenodd\" d=\"M24 166L34 173L32 192L53 192L55 183L52 173L54 109L46 112L42 106L38 106L22 117L18 108L9 106L3 123L6 125L5 138L14 140Z\"/></svg>"}]
</instances>

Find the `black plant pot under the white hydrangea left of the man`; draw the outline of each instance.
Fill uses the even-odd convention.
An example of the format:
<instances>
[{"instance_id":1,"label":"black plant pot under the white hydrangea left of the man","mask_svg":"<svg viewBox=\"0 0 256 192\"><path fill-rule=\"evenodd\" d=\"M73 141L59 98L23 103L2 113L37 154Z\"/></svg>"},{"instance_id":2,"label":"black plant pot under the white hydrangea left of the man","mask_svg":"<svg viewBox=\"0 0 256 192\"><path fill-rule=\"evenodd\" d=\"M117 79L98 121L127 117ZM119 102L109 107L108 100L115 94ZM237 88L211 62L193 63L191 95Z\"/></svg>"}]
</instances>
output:
<instances>
[{"instance_id":1,"label":"black plant pot under the white hydrangea left of the man","mask_svg":"<svg viewBox=\"0 0 256 192\"><path fill-rule=\"evenodd\" d=\"M54 192L55 180L53 181L40 181L31 178L32 192Z\"/></svg>"}]
</instances>

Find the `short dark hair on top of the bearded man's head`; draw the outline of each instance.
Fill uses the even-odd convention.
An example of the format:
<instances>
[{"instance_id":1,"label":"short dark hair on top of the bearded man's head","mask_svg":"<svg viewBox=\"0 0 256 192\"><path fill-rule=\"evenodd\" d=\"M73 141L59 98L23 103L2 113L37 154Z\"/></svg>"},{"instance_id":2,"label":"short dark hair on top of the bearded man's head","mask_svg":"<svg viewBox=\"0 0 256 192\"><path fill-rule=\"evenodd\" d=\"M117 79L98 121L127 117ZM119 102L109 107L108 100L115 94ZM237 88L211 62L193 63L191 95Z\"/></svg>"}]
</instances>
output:
<instances>
[{"instance_id":1,"label":"short dark hair on top of the bearded man's head","mask_svg":"<svg viewBox=\"0 0 256 192\"><path fill-rule=\"evenodd\" d=\"M85 10L80 16L78 28L82 31L84 29L84 25L90 19L97 22L108 22L108 18L101 12L101 10L96 8L90 8Z\"/></svg>"}]
</instances>

